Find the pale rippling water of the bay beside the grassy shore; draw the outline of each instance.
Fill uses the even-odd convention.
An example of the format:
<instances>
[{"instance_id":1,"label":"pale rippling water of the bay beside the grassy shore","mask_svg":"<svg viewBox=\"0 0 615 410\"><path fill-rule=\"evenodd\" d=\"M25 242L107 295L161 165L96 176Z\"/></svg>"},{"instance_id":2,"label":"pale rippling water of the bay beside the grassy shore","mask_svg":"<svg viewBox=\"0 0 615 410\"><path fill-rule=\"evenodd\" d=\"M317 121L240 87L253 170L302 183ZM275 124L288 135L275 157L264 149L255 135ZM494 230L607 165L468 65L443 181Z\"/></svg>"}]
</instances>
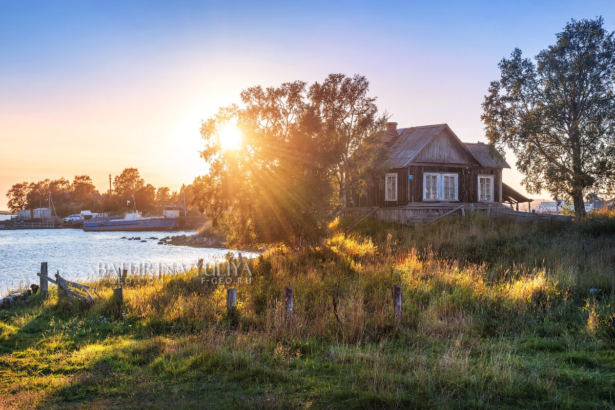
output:
<instances>
[{"instance_id":1,"label":"pale rippling water of the bay beside the grassy shore","mask_svg":"<svg viewBox=\"0 0 615 410\"><path fill-rule=\"evenodd\" d=\"M1 216L1 215L0 215ZM77 229L0 230L0 295L20 284L38 284L36 276L41 262L47 262L49 275L56 271L69 280L100 277L105 268L118 268L132 263L133 269L145 263L152 270L180 271L196 266L199 258L205 263L224 259L228 249L158 245L151 236L164 238L190 235L194 231L131 231L84 232ZM120 239L140 236L140 241ZM235 251L236 253L236 251ZM256 254L242 252L246 257ZM113 265L112 265L113 264ZM164 264L164 265L163 265Z\"/></svg>"}]
</instances>

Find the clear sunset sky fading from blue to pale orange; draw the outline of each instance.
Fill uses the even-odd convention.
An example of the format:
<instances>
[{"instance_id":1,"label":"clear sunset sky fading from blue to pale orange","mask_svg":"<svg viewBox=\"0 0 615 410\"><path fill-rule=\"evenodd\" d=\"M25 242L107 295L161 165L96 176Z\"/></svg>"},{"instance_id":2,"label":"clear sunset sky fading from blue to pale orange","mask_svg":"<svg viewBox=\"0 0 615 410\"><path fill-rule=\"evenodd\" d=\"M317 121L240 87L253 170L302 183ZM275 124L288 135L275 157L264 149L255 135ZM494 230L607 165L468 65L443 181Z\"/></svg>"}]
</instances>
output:
<instances>
[{"instance_id":1,"label":"clear sunset sky fading from blue to pale orange","mask_svg":"<svg viewBox=\"0 0 615 410\"><path fill-rule=\"evenodd\" d=\"M218 107L332 72L365 75L400 128L486 141L498 62L598 15L615 30L613 1L0 0L0 210L17 182L87 174L106 191L129 167L177 190L207 172L199 127Z\"/></svg>"}]
</instances>

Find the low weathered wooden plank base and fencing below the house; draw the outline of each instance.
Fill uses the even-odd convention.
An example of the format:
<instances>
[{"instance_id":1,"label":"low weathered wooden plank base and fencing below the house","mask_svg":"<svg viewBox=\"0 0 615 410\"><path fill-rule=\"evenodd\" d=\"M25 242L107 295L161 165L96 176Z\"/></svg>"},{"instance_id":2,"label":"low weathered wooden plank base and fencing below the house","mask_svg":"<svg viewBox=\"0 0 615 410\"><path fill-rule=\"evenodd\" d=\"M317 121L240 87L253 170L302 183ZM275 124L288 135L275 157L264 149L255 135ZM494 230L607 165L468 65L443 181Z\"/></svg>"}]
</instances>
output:
<instances>
[{"instance_id":1,"label":"low weathered wooden plank base and fencing below the house","mask_svg":"<svg viewBox=\"0 0 615 410\"><path fill-rule=\"evenodd\" d=\"M574 217L554 214L532 214L530 212L514 211L500 203L411 203L403 206L379 207L347 207L341 214L342 219L358 221L371 213L371 217L383 222L401 223L403 225L422 225L445 215L472 215L479 212L488 217L505 217L518 222L550 221L573 222Z\"/></svg>"}]
</instances>

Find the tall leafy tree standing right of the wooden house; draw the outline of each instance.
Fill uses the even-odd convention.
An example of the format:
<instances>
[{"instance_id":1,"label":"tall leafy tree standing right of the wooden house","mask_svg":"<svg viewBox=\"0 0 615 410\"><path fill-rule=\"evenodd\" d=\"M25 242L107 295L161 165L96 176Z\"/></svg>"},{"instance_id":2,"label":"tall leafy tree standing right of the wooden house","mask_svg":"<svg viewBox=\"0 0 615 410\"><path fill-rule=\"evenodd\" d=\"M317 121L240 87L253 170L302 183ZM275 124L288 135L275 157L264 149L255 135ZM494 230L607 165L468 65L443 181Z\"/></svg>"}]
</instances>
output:
<instances>
[{"instance_id":1,"label":"tall leafy tree standing right of the wooden house","mask_svg":"<svg viewBox=\"0 0 615 410\"><path fill-rule=\"evenodd\" d=\"M581 217L585 193L613 187L613 36L601 17L571 20L534 61L515 48L482 104L490 142L513 150L528 191L566 193Z\"/></svg>"}]
</instances>

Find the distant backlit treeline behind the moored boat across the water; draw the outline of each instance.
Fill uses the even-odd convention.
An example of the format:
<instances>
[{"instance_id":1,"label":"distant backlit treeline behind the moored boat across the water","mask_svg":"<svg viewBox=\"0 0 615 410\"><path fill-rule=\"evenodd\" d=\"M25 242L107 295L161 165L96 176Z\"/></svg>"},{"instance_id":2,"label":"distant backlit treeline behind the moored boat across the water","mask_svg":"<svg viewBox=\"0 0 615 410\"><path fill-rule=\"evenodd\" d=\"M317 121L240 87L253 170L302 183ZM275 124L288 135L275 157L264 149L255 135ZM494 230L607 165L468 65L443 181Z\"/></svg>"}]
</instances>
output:
<instances>
[{"instance_id":1,"label":"distant backlit treeline behind the moored boat across the water","mask_svg":"<svg viewBox=\"0 0 615 410\"><path fill-rule=\"evenodd\" d=\"M100 192L87 175L76 175L71 182L60 178L39 182L19 182L13 185L6 196L11 211L49 206L49 196L58 215L68 215L82 209L93 212L120 212L134 196L139 211L152 212L157 205L181 204L184 198L189 204L192 186L171 191L169 187L156 188L146 184L137 168L126 168L113 179L113 190Z\"/></svg>"}]
</instances>

